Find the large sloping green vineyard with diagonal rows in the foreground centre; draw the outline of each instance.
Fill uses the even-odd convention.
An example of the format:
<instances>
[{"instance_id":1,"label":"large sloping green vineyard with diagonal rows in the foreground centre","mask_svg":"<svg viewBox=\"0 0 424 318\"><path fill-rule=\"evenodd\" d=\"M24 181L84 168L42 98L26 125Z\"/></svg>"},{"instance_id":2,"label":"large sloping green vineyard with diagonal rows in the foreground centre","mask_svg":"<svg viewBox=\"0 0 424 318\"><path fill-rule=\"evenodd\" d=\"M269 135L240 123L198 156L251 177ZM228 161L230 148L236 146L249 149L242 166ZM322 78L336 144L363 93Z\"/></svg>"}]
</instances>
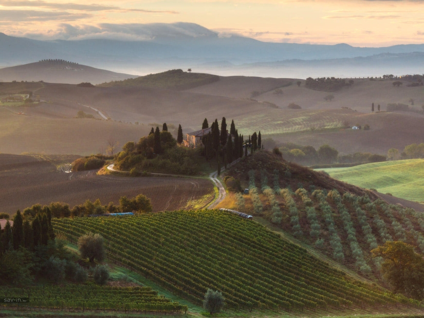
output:
<instances>
[{"instance_id":1,"label":"large sloping green vineyard with diagonal rows in the foreground centre","mask_svg":"<svg viewBox=\"0 0 424 318\"><path fill-rule=\"evenodd\" d=\"M74 242L101 234L110 258L195 304L208 288L222 291L228 307L250 310L409 302L348 278L259 223L218 210L52 223Z\"/></svg>"}]
</instances>

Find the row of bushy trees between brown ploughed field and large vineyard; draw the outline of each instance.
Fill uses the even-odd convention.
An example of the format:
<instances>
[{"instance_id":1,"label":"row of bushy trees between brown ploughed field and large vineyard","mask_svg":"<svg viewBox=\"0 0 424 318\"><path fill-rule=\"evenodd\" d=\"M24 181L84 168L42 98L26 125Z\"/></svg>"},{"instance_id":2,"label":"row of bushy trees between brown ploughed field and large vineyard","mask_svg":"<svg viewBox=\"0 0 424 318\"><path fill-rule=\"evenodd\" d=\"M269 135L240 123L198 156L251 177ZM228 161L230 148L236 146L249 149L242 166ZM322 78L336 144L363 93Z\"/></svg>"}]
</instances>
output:
<instances>
[{"instance_id":1,"label":"row of bushy trees between brown ploughed field and large vineyard","mask_svg":"<svg viewBox=\"0 0 424 318\"><path fill-rule=\"evenodd\" d=\"M26 219L33 219L38 214L48 213L55 218L63 217L83 217L90 214L105 214L105 213L118 213L118 212L152 212L153 207L151 200L143 194L139 194L134 198L127 198L123 196L119 199L119 205L114 202L109 202L102 205L100 200L94 202L86 200L83 204L75 205L72 209L69 204L63 202L51 202L49 205L42 206L41 204L34 204L30 208L23 211Z\"/></svg>"}]
</instances>

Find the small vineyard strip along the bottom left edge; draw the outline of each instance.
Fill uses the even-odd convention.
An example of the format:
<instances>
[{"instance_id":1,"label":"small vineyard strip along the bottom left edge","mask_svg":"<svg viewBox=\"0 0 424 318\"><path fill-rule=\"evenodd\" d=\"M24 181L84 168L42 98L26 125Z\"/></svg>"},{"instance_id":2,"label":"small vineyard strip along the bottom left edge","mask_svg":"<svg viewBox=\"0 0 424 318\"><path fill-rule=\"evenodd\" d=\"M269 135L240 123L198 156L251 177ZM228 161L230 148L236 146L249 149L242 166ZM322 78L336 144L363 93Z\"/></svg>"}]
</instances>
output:
<instances>
[{"instance_id":1,"label":"small vineyard strip along the bottom left edge","mask_svg":"<svg viewBox=\"0 0 424 318\"><path fill-rule=\"evenodd\" d=\"M158 296L151 287L108 287L97 285L3 286L0 298L29 298L28 303L0 303L2 307L72 311L116 311L133 313L180 313L187 306Z\"/></svg>"}]
</instances>

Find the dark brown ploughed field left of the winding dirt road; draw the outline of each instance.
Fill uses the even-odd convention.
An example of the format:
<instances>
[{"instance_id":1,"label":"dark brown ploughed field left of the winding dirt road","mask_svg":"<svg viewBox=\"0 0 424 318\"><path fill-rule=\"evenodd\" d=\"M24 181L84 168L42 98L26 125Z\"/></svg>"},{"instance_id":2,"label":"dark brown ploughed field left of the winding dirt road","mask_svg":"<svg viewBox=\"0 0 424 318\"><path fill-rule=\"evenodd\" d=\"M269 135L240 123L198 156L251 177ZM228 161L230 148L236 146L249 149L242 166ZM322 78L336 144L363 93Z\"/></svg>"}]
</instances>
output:
<instances>
[{"instance_id":1,"label":"dark brown ploughed field left of the winding dirt road","mask_svg":"<svg viewBox=\"0 0 424 318\"><path fill-rule=\"evenodd\" d=\"M59 172L55 162L31 156L0 154L0 212L14 213L32 204L61 201L70 207L85 200L119 204L121 196L144 194L152 200L153 211L178 210L189 201L211 194L207 179L96 175L96 171Z\"/></svg>"}]
</instances>

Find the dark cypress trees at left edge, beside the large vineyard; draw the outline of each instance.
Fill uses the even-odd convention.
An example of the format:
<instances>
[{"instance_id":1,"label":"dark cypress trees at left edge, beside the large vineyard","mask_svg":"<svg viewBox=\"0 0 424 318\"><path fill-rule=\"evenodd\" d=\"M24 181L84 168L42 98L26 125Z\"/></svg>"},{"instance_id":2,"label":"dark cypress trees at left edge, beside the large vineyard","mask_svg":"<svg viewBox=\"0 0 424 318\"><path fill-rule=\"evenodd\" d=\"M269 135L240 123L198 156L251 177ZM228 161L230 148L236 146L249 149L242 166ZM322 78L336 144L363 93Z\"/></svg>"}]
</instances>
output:
<instances>
[{"instance_id":1,"label":"dark cypress trees at left edge, beside the large vineyard","mask_svg":"<svg viewBox=\"0 0 424 318\"><path fill-rule=\"evenodd\" d=\"M0 231L0 256L5 251L21 247L33 251L38 245L47 245L50 239L54 239L54 232L49 208L45 209L45 213L38 213L32 222L24 221L18 210L13 218L13 227L7 221L5 229Z\"/></svg>"}]
</instances>

